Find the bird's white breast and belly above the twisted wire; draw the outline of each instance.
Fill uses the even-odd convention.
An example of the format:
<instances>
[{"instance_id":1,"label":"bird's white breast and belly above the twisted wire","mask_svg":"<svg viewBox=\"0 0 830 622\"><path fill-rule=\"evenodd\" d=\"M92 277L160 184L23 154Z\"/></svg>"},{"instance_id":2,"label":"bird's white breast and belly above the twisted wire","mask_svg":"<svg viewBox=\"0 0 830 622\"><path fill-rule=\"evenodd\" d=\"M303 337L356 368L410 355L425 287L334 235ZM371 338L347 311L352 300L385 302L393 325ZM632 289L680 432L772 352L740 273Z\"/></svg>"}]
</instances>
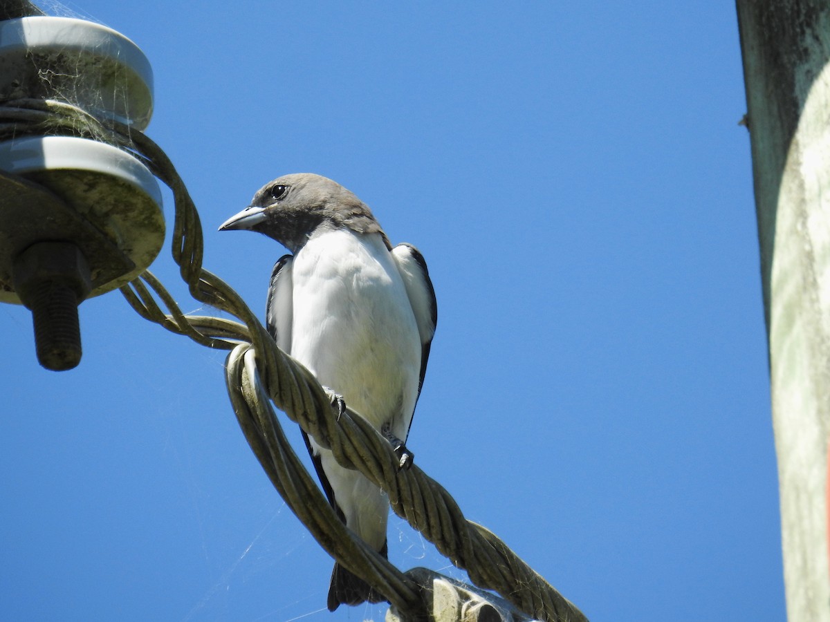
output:
<instances>
[{"instance_id":1,"label":"bird's white breast and belly above the twisted wire","mask_svg":"<svg viewBox=\"0 0 830 622\"><path fill-rule=\"evenodd\" d=\"M421 342L412 305L377 234L325 231L293 264L291 355L375 427L405 438Z\"/></svg>"}]
</instances>

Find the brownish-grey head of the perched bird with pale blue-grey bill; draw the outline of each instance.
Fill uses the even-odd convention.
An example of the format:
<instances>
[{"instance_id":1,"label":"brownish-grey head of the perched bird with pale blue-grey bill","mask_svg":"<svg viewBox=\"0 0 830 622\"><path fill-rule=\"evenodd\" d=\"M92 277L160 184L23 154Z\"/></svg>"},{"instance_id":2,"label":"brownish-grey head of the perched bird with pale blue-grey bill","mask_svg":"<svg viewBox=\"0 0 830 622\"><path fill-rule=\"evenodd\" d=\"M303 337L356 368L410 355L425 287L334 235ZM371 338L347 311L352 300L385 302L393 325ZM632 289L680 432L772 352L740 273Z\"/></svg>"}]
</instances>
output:
<instances>
[{"instance_id":1,"label":"brownish-grey head of the perched bird with pale blue-grey bill","mask_svg":"<svg viewBox=\"0 0 830 622\"><path fill-rule=\"evenodd\" d=\"M266 183L251 205L228 218L219 231L257 231L296 253L320 227L379 233L390 246L369 206L339 183L314 173L284 175Z\"/></svg>"}]
</instances>

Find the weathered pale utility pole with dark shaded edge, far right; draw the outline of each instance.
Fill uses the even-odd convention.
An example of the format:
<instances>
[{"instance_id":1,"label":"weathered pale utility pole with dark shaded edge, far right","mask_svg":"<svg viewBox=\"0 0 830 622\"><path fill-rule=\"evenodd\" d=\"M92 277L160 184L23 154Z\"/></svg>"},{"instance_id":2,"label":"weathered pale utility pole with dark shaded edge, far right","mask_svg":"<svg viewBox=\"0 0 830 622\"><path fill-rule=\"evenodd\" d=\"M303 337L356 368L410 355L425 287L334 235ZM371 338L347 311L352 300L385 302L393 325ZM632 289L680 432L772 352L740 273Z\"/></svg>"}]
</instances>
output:
<instances>
[{"instance_id":1,"label":"weathered pale utility pole with dark shaded edge, far right","mask_svg":"<svg viewBox=\"0 0 830 622\"><path fill-rule=\"evenodd\" d=\"M787 615L830 620L830 2L737 0ZM747 485L752 485L750 482Z\"/></svg>"}]
</instances>

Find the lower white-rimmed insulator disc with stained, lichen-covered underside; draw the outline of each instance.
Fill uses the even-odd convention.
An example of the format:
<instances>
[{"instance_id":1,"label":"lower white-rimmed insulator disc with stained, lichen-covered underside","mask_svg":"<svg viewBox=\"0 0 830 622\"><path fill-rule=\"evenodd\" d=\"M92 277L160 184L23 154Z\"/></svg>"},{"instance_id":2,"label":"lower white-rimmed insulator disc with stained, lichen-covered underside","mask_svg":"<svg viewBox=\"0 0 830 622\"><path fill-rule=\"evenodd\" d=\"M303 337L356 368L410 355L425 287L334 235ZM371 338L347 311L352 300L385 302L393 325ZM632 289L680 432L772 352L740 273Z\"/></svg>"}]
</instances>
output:
<instances>
[{"instance_id":1,"label":"lower white-rimmed insulator disc with stained, lichen-covered underside","mask_svg":"<svg viewBox=\"0 0 830 622\"><path fill-rule=\"evenodd\" d=\"M0 190L0 302L19 302L11 262L37 241L71 241L84 250L90 295L137 277L164 244L154 177L105 143L62 136L0 142Z\"/></svg>"}]
</instances>

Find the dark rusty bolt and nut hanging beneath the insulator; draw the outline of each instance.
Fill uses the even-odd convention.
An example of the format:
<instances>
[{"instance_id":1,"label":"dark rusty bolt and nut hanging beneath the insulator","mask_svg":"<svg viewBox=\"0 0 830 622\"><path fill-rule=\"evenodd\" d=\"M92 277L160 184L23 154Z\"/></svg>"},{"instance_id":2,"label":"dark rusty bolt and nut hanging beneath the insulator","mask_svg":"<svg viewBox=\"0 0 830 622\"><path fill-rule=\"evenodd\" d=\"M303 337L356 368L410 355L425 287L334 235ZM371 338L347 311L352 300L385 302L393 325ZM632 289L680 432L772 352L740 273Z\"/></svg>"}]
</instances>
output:
<instances>
[{"instance_id":1,"label":"dark rusty bolt and nut hanging beneath the insulator","mask_svg":"<svg viewBox=\"0 0 830 622\"><path fill-rule=\"evenodd\" d=\"M90 268L71 242L37 242L12 262L14 289L32 311L37 361L62 372L81 362L78 305L92 289Z\"/></svg>"}]
</instances>

